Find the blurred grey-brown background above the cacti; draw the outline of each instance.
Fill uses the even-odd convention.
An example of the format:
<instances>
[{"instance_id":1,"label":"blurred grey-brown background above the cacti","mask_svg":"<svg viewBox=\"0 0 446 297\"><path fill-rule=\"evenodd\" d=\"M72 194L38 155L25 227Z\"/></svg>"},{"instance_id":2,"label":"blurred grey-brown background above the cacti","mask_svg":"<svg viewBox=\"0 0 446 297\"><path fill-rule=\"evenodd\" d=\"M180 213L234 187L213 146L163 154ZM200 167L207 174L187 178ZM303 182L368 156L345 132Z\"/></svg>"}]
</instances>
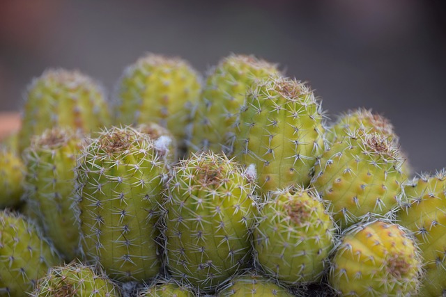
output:
<instances>
[{"instance_id":1,"label":"blurred grey-brown background above the cacti","mask_svg":"<svg viewBox=\"0 0 446 297\"><path fill-rule=\"evenodd\" d=\"M332 119L356 107L382 113L415 170L434 171L446 167L445 2L0 1L0 112L19 111L47 67L81 70L112 90L146 51L201 72L254 54L307 81Z\"/></svg>"}]
</instances>

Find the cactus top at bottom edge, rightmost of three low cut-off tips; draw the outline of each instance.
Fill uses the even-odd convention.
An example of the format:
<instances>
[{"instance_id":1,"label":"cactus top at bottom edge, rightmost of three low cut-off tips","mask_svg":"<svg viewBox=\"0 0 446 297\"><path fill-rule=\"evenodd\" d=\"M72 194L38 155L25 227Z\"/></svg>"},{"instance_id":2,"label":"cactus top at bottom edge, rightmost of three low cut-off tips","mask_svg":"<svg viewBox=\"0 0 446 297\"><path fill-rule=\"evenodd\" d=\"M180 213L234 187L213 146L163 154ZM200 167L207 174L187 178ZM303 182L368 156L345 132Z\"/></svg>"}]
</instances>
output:
<instances>
[{"instance_id":1,"label":"cactus top at bottom edge, rightmost of three low cut-off tips","mask_svg":"<svg viewBox=\"0 0 446 297\"><path fill-rule=\"evenodd\" d=\"M289 291L275 282L259 275L240 275L231 280L229 284L217 292L217 297L245 297L245 296L276 296L291 297Z\"/></svg>"}]
</instances>

